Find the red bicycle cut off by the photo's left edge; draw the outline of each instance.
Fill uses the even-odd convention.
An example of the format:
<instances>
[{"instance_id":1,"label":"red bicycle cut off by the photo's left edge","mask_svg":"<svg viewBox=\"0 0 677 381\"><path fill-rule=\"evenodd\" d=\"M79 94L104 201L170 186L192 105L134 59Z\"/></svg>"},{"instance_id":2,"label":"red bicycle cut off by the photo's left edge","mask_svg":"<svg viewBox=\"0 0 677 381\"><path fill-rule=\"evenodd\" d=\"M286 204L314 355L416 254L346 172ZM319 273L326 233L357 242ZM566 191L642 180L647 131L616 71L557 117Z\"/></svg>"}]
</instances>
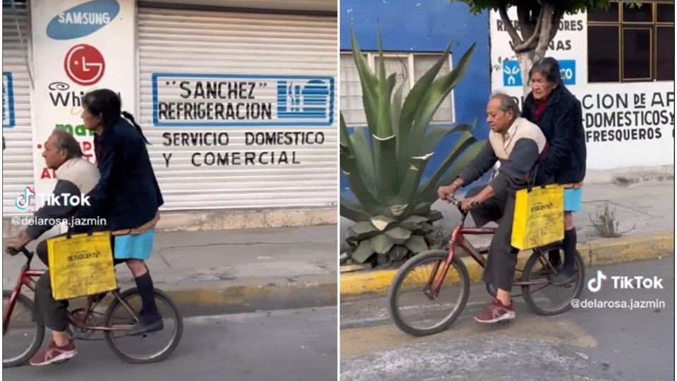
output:
<instances>
[{"instance_id":1,"label":"red bicycle cut off by the photo's left edge","mask_svg":"<svg viewBox=\"0 0 677 381\"><path fill-rule=\"evenodd\" d=\"M35 279L46 270L31 270L33 253L25 248L22 253L26 262L21 267L16 286L12 290L2 291L4 315L2 316L2 367L23 365L42 346L44 325L35 322L32 314L33 301L21 293L23 286L35 292ZM112 301L104 313L97 308L106 295L112 295ZM106 344L130 363L153 363L164 360L176 349L183 334L183 317L171 298L159 289L155 289L155 303L163 317L164 329L159 332L129 336L126 334L140 320L141 296L136 288L120 292L115 289L109 293L87 297L85 308L68 311L68 332L71 337L80 340L102 340L95 337L102 333ZM105 305L104 305L105 307ZM153 341L161 337L168 339ZM68 360L66 360L68 361Z\"/></svg>"}]
</instances>

